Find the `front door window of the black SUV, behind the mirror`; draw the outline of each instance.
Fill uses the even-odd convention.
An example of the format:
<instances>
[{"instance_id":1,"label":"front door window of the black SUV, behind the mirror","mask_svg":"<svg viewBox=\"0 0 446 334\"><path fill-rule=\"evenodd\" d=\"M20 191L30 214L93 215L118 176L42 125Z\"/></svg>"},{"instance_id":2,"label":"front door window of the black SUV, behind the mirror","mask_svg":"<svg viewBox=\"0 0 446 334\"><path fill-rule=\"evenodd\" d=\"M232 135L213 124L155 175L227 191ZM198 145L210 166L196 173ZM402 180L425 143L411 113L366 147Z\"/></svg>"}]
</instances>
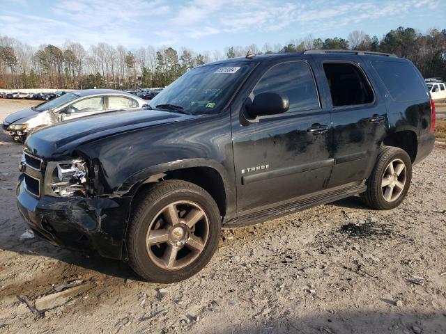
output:
<instances>
[{"instance_id":1,"label":"front door window of the black SUV, behind the mirror","mask_svg":"<svg viewBox=\"0 0 446 334\"><path fill-rule=\"evenodd\" d=\"M303 61L281 63L270 68L253 90L254 96L266 92L286 95L290 100L289 112L319 108L312 71Z\"/></svg>"}]
</instances>

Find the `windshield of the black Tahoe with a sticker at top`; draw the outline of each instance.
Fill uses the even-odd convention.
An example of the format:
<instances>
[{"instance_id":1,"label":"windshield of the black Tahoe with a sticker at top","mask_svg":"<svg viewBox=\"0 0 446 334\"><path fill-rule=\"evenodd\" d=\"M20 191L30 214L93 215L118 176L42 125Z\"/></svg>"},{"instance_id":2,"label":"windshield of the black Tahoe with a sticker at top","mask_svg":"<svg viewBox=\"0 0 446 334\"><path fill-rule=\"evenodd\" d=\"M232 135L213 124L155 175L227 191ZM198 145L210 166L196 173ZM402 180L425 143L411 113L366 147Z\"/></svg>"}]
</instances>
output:
<instances>
[{"instance_id":1,"label":"windshield of the black Tahoe with a sticker at top","mask_svg":"<svg viewBox=\"0 0 446 334\"><path fill-rule=\"evenodd\" d=\"M194 115L218 113L256 63L234 62L196 67L153 97L153 109Z\"/></svg>"}]
</instances>

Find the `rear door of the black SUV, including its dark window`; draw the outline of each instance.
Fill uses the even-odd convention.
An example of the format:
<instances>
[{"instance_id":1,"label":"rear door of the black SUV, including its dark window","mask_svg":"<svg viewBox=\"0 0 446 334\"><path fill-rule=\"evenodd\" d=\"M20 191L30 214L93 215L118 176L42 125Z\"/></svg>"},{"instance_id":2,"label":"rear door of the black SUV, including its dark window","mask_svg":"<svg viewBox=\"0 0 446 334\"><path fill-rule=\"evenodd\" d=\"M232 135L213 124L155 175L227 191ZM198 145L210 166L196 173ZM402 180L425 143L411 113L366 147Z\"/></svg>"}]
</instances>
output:
<instances>
[{"instance_id":1,"label":"rear door of the black SUV, including its dark window","mask_svg":"<svg viewBox=\"0 0 446 334\"><path fill-rule=\"evenodd\" d=\"M360 56L315 56L330 92L333 172L328 187L369 177L385 137L387 109Z\"/></svg>"}]
</instances>

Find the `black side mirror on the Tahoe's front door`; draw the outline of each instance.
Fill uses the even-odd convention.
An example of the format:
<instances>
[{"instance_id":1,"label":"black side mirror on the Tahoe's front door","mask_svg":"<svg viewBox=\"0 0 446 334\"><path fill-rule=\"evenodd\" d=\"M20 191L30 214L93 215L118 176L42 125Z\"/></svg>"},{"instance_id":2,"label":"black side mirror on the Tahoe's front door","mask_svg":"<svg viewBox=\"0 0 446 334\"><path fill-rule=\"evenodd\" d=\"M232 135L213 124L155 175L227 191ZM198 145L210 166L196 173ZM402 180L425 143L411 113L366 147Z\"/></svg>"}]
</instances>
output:
<instances>
[{"instance_id":1,"label":"black side mirror on the Tahoe's front door","mask_svg":"<svg viewBox=\"0 0 446 334\"><path fill-rule=\"evenodd\" d=\"M261 93L254 97L252 104L247 104L249 116L266 116L284 113L290 108L288 97L282 93Z\"/></svg>"}]
</instances>

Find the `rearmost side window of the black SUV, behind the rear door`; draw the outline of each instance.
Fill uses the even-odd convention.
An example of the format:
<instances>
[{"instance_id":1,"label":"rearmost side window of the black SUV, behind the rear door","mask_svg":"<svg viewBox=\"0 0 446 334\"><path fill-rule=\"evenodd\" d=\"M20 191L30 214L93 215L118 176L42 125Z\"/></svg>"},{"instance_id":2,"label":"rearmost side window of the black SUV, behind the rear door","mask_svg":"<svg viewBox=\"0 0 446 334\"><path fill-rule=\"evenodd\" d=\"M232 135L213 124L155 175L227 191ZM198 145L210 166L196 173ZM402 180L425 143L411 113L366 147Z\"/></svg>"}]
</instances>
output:
<instances>
[{"instance_id":1,"label":"rearmost side window of the black SUV, behind the rear door","mask_svg":"<svg viewBox=\"0 0 446 334\"><path fill-rule=\"evenodd\" d=\"M371 65L378 72L393 100L405 102L426 99L426 86L410 63L372 61Z\"/></svg>"}]
</instances>

